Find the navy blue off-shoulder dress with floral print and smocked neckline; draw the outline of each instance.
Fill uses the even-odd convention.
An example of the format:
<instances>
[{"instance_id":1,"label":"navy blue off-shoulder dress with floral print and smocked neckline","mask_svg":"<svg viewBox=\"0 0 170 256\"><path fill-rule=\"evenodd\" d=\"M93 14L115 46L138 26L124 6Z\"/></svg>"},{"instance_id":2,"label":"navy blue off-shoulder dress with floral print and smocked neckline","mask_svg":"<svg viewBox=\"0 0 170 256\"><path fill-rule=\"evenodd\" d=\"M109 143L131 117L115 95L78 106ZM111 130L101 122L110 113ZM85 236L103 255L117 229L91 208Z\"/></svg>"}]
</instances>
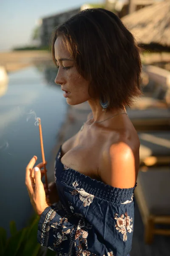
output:
<instances>
[{"instance_id":1,"label":"navy blue off-shoulder dress with floral print and smocked neckline","mask_svg":"<svg viewBox=\"0 0 170 256\"><path fill-rule=\"evenodd\" d=\"M60 201L42 212L38 242L59 256L127 256L134 225L133 193L85 176L61 163L54 177Z\"/></svg>"}]
</instances>

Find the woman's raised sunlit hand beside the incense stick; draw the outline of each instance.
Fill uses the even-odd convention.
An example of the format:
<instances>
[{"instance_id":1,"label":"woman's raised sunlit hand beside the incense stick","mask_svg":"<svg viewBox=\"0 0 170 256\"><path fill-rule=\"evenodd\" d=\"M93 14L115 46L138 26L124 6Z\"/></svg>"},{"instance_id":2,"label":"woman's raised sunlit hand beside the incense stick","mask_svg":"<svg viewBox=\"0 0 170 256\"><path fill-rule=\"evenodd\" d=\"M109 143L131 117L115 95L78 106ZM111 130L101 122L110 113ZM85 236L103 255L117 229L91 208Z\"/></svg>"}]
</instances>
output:
<instances>
[{"instance_id":1,"label":"woman's raised sunlit hand beside the incense stick","mask_svg":"<svg viewBox=\"0 0 170 256\"><path fill-rule=\"evenodd\" d=\"M51 204L46 201L45 190L41 181L40 169L44 166L44 164L39 163L33 169L36 161L37 157L34 156L26 167L26 187L34 210L38 215L41 215L42 212Z\"/></svg>"}]
</instances>

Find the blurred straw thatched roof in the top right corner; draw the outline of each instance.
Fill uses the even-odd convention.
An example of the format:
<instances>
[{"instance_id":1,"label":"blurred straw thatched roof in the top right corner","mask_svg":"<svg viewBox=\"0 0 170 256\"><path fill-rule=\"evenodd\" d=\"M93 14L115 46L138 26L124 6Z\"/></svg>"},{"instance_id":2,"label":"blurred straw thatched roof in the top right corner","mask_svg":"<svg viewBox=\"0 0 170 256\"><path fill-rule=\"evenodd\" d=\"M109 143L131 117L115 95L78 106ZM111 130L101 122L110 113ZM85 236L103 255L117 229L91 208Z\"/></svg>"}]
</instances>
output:
<instances>
[{"instance_id":1,"label":"blurred straw thatched roof in the top right corner","mask_svg":"<svg viewBox=\"0 0 170 256\"><path fill-rule=\"evenodd\" d=\"M170 46L170 0L144 7L121 20L138 44Z\"/></svg>"}]
</instances>

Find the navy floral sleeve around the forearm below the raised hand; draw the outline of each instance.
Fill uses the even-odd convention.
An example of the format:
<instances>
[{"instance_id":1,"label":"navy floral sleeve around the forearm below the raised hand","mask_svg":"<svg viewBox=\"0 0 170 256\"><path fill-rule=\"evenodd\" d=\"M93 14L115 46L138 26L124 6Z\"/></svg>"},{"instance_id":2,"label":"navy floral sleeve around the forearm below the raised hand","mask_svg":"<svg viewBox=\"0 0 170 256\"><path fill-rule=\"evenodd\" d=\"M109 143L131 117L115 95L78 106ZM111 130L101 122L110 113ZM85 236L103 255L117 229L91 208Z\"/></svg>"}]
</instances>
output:
<instances>
[{"instance_id":1,"label":"navy floral sleeve around the forearm below the raised hand","mask_svg":"<svg viewBox=\"0 0 170 256\"><path fill-rule=\"evenodd\" d=\"M66 209L55 206L47 207L40 216L37 240L45 247L61 253L72 255L74 238L81 215L73 214Z\"/></svg>"}]
</instances>

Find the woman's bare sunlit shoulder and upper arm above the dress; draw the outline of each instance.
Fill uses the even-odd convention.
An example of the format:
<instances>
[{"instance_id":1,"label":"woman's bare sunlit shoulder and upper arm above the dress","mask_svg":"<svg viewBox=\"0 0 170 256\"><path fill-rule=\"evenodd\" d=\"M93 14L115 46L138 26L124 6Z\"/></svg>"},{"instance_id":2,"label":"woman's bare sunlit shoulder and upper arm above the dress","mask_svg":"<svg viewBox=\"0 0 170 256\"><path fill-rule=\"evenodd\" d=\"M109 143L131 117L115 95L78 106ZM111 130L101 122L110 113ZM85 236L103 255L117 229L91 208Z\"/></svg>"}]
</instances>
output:
<instances>
[{"instance_id":1,"label":"woman's bare sunlit shoulder and upper arm above the dress","mask_svg":"<svg viewBox=\"0 0 170 256\"><path fill-rule=\"evenodd\" d=\"M99 176L117 188L135 186L139 171L139 137L137 133L119 134L105 145L99 164Z\"/></svg>"}]
</instances>

